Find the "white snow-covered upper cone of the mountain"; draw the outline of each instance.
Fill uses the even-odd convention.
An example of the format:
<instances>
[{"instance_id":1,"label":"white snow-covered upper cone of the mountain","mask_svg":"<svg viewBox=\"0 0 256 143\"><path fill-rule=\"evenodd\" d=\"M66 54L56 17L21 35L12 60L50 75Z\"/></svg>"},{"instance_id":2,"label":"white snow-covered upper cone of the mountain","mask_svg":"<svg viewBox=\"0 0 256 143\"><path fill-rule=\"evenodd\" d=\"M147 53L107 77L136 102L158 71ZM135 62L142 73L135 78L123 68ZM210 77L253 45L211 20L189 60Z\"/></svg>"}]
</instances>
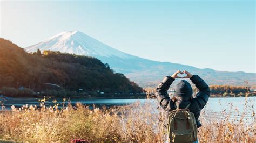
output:
<instances>
[{"instance_id":1,"label":"white snow-covered upper cone of the mountain","mask_svg":"<svg viewBox=\"0 0 256 143\"><path fill-rule=\"evenodd\" d=\"M59 33L38 44L25 48L28 52L35 52L37 49L59 51L87 56L118 56L119 58L130 58L131 55L118 51L102 42L84 34L80 31L68 31Z\"/></svg>"}]
</instances>

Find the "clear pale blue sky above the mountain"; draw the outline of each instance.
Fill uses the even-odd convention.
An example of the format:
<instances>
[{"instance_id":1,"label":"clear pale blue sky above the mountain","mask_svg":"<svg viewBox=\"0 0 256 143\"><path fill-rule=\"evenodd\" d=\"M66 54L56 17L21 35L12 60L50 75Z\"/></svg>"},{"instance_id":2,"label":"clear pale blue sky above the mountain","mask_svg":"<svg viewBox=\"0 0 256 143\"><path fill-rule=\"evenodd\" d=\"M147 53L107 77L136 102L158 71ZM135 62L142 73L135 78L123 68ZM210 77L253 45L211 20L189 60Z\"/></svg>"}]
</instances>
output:
<instances>
[{"instance_id":1,"label":"clear pale blue sky above the mountain","mask_svg":"<svg viewBox=\"0 0 256 143\"><path fill-rule=\"evenodd\" d=\"M255 73L254 1L1 1L0 37L27 47L82 31L120 51Z\"/></svg>"}]
</instances>

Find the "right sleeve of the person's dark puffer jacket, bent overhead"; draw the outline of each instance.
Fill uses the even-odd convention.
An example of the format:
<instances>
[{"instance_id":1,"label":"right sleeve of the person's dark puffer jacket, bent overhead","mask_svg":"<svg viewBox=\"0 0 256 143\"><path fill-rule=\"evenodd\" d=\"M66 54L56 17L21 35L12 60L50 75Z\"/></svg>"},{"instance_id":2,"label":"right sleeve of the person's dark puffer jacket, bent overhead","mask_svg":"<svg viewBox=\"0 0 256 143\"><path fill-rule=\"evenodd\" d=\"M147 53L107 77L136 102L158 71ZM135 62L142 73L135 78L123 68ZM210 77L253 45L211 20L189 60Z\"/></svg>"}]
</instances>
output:
<instances>
[{"instance_id":1,"label":"right sleeve of the person's dark puffer jacket, bent overhead","mask_svg":"<svg viewBox=\"0 0 256 143\"><path fill-rule=\"evenodd\" d=\"M210 97L211 90L206 84L206 82L198 75L193 75L190 78L190 80L199 89L199 92L197 93L197 96L194 99L197 101L200 110L202 110Z\"/></svg>"}]
</instances>

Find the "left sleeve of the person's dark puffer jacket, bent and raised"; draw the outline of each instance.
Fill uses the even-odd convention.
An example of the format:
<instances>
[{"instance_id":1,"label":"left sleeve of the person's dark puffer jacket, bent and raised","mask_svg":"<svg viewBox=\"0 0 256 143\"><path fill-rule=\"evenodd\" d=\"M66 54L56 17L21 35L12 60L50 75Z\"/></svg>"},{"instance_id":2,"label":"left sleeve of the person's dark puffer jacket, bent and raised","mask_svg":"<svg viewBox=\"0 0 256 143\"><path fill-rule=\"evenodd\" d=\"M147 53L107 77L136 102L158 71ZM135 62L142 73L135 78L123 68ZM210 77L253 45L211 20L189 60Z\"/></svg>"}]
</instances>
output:
<instances>
[{"instance_id":1,"label":"left sleeve of the person's dark puffer jacket, bent and raised","mask_svg":"<svg viewBox=\"0 0 256 143\"><path fill-rule=\"evenodd\" d=\"M174 80L175 79L170 76L164 77L163 81L161 81L161 83L157 86L155 93L160 106L168 112L175 109L173 101L167 94L167 90L170 88L170 85Z\"/></svg>"}]
</instances>

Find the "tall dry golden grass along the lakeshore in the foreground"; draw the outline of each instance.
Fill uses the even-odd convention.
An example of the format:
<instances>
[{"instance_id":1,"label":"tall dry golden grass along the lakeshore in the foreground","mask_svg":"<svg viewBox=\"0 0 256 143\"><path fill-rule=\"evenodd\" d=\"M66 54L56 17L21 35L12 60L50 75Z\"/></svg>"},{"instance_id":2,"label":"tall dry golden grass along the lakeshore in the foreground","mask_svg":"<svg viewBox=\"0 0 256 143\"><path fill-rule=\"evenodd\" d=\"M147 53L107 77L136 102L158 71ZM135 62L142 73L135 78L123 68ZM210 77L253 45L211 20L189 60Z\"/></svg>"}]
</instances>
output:
<instances>
[{"instance_id":1,"label":"tall dry golden grass along the lakeshore in the foreground","mask_svg":"<svg viewBox=\"0 0 256 143\"><path fill-rule=\"evenodd\" d=\"M91 142L164 142L166 139L166 113L150 100L111 109L90 110L80 103L72 107L66 101L60 105L61 109L58 106L45 107L42 102L40 108L25 105L1 112L0 140L53 142L75 138ZM199 141L255 142L254 101L247 100L244 106L243 112L233 109L232 103L221 114L204 110ZM252 115L248 115L248 110ZM233 117L233 113L239 116Z\"/></svg>"}]
</instances>

